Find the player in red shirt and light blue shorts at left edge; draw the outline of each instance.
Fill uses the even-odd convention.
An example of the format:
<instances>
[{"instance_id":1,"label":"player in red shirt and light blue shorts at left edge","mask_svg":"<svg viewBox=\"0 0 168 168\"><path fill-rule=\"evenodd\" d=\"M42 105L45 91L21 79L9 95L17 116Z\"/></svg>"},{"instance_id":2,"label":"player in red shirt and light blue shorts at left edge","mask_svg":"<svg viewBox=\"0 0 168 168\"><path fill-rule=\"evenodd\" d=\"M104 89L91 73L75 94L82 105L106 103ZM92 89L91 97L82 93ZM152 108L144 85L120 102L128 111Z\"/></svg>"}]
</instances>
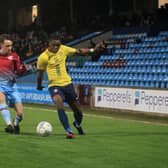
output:
<instances>
[{"instance_id":1,"label":"player in red shirt and light blue shorts at left edge","mask_svg":"<svg viewBox=\"0 0 168 168\"><path fill-rule=\"evenodd\" d=\"M25 67L19 56L12 52L12 40L8 34L0 35L0 112L5 120L8 133L20 133L19 123L23 119L23 106L16 87L15 75L21 75ZM15 107L16 116L11 121L8 102Z\"/></svg>"}]
</instances>

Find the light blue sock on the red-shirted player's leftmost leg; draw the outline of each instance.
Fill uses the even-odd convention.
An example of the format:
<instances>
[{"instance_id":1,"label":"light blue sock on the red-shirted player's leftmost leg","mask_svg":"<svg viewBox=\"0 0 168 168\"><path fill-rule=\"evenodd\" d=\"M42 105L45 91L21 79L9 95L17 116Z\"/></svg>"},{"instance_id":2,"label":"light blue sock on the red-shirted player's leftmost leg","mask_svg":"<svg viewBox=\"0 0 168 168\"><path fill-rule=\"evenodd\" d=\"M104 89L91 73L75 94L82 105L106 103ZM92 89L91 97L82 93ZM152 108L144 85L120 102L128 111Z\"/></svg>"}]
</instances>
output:
<instances>
[{"instance_id":1,"label":"light blue sock on the red-shirted player's leftmost leg","mask_svg":"<svg viewBox=\"0 0 168 168\"><path fill-rule=\"evenodd\" d=\"M6 104L0 104L0 111L2 117L7 125L11 124L11 115Z\"/></svg>"}]
</instances>

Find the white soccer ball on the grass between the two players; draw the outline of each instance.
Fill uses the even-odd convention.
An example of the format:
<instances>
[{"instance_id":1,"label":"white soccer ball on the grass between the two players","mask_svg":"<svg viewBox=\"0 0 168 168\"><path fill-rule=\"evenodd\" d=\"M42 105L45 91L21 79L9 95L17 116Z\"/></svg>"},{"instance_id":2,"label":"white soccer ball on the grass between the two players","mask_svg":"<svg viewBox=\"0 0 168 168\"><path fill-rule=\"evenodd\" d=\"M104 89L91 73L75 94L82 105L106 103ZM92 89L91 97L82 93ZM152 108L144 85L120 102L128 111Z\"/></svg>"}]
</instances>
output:
<instances>
[{"instance_id":1,"label":"white soccer ball on the grass between the two players","mask_svg":"<svg viewBox=\"0 0 168 168\"><path fill-rule=\"evenodd\" d=\"M36 127L36 132L40 136L49 136L52 132L52 125L47 121L41 121Z\"/></svg>"}]
</instances>

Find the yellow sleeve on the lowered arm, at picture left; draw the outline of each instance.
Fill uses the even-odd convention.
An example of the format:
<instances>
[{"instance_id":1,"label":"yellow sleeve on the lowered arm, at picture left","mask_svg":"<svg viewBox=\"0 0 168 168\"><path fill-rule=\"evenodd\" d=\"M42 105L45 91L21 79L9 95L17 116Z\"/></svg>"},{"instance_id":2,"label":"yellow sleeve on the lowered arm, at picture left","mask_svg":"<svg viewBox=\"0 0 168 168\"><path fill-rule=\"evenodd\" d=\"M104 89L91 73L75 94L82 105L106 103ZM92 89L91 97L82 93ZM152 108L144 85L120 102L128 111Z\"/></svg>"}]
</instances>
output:
<instances>
[{"instance_id":1,"label":"yellow sleeve on the lowered arm, at picture left","mask_svg":"<svg viewBox=\"0 0 168 168\"><path fill-rule=\"evenodd\" d=\"M38 70L46 70L47 63L48 63L47 55L46 54L41 54L38 57L38 60L37 60L37 69Z\"/></svg>"}]
</instances>

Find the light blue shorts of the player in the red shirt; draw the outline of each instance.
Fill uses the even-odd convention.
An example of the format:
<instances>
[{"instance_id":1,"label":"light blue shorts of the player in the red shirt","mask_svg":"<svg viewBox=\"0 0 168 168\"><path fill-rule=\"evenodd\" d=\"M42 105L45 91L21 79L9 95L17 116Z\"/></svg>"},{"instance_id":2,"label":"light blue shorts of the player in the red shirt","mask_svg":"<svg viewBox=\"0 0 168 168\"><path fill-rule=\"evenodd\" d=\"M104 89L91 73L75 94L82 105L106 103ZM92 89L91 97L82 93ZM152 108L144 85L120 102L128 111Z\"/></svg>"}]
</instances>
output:
<instances>
[{"instance_id":1,"label":"light blue shorts of the player in the red shirt","mask_svg":"<svg viewBox=\"0 0 168 168\"><path fill-rule=\"evenodd\" d=\"M14 106L14 104L16 103L22 102L16 85L14 85L13 87L0 85L0 92L5 94L7 104L10 107Z\"/></svg>"}]
</instances>

